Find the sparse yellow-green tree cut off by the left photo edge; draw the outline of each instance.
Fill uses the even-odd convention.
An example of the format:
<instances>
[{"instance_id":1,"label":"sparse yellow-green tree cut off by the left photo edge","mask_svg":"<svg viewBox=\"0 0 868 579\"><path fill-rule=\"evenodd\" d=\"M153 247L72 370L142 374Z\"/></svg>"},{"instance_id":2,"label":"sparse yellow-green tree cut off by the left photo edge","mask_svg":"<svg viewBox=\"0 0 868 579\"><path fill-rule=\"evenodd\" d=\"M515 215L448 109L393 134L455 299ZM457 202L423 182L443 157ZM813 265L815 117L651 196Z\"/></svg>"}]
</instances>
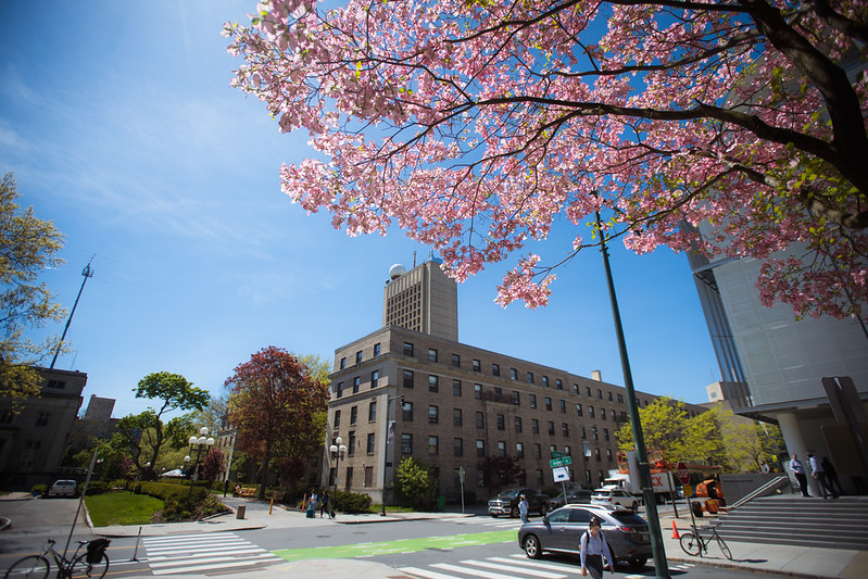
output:
<instances>
[{"instance_id":1,"label":"sparse yellow-green tree cut off by the left photo edge","mask_svg":"<svg viewBox=\"0 0 868 579\"><path fill-rule=\"evenodd\" d=\"M50 222L21 211L17 185L8 173L0 180L0 397L12 399L13 411L39 394L41 377L32 365L42 364L58 343L56 337L42 343L24 338L24 330L59 322L65 311L38 277L63 260L55 254L63 247L63 234Z\"/></svg>"}]
</instances>

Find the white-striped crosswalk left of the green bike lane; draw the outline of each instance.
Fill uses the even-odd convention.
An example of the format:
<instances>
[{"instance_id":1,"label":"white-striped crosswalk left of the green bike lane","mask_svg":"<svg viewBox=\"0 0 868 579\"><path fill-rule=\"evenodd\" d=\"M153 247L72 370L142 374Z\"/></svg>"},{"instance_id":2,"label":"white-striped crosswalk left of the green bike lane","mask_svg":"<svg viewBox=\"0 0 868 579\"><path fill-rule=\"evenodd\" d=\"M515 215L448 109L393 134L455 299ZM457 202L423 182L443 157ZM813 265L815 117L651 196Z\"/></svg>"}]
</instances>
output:
<instances>
[{"instance_id":1,"label":"white-striped crosswalk left of the green bike lane","mask_svg":"<svg viewBox=\"0 0 868 579\"><path fill-rule=\"evenodd\" d=\"M142 540L154 575L202 574L286 563L232 532L149 537Z\"/></svg>"}]
</instances>

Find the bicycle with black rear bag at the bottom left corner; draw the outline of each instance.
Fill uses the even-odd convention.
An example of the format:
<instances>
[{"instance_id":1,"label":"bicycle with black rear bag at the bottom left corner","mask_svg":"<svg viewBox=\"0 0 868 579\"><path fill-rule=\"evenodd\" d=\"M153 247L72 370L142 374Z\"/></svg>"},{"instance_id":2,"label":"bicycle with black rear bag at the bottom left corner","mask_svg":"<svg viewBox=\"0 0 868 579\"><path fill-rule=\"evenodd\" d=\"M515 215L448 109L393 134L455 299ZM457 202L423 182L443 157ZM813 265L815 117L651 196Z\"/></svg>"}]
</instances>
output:
<instances>
[{"instance_id":1,"label":"bicycle with black rear bag at the bottom left corner","mask_svg":"<svg viewBox=\"0 0 868 579\"><path fill-rule=\"evenodd\" d=\"M46 555L51 555L54 558L58 566L58 579L84 579L86 577L99 579L105 576L109 570L109 555L105 554L105 547L109 546L106 539L78 541L75 553L68 559L54 549L55 542L54 539L49 539L41 555L27 555L13 563L3 576L4 579L46 579L51 572L51 562ZM83 546L91 544L93 546L81 551Z\"/></svg>"}]
</instances>

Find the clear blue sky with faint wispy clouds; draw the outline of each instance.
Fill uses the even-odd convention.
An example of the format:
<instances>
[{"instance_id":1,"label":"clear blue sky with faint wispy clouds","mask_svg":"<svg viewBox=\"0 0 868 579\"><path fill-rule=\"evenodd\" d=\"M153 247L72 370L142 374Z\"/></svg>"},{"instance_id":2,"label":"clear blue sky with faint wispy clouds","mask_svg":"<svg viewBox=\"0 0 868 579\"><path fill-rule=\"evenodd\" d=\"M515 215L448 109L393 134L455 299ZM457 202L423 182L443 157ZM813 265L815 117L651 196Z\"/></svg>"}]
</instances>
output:
<instances>
[{"instance_id":1,"label":"clear blue sky with faint wispy clouds","mask_svg":"<svg viewBox=\"0 0 868 579\"><path fill-rule=\"evenodd\" d=\"M254 9L0 2L0 172L66 235L66 263L43 280L67 309L96 254L56 367L87 373L85 404L116 399L116 417L149 405L133 390L152 372L217 392L267 345L331 362L380 327L389 267L428 255L399 230L350 238L280 193L280 163L310 155L307 136L280 135L229 87L238 62L221 36ZM564 228L546 256L573 237ZM720 376L687 257L611 253L636 387L705 402ZM557 272L545 309L494 303L507 268L458 287L460 340L622 385L600 252Z\"/></svg>"}]
</instances>

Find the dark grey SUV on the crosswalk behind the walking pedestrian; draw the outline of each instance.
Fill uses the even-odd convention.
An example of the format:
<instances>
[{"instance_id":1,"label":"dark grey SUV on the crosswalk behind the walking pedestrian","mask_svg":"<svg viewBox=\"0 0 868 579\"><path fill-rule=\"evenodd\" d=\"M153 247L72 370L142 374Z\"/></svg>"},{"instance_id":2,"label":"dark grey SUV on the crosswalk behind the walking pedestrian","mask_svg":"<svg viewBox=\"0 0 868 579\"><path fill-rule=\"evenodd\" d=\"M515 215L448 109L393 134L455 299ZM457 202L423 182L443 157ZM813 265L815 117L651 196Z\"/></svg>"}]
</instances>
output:
<instances>
[{"instance_id":1,"label":"dark grey SUV on the crosswalk behind the walking pedestrian","mask_svg":"<svg viewBox=\"0 0 868 579\"><path fill-rule=\"evenodd\" d=\"M615 564L624 562L631 567L642 567L647 563L652 556L647 521L632 511L620 508L562 506L540 520L521 525L518 545L530 558L539 558L543 553L578 555L579 541L593 517L603 520L601 530Z\"/></svg>"}]
</instances>

